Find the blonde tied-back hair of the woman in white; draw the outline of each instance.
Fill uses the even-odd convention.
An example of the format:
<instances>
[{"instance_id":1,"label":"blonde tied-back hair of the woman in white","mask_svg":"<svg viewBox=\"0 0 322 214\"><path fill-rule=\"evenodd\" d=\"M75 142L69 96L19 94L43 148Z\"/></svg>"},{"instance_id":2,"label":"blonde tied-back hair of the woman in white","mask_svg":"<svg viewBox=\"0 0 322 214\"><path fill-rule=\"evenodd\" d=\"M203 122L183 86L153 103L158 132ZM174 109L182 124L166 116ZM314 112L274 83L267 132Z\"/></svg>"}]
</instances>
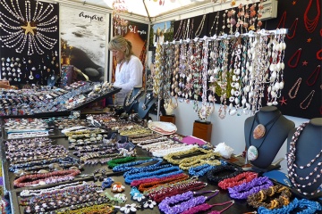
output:
<instances>
[{"instance_id":1,"label":"blonde tied-back hair of the woman in white","mask_svg":"<svg viewBox=\"0 0 322 214\"><path fill-rule=\"evenodd\" d=\"M131 55L134 54L131 48L131 42L122 36L113 37L111 41L108 43L109 50L118 50L124 53L124 58L126 62L129 62Z\"/></svg>"}]
</instances>

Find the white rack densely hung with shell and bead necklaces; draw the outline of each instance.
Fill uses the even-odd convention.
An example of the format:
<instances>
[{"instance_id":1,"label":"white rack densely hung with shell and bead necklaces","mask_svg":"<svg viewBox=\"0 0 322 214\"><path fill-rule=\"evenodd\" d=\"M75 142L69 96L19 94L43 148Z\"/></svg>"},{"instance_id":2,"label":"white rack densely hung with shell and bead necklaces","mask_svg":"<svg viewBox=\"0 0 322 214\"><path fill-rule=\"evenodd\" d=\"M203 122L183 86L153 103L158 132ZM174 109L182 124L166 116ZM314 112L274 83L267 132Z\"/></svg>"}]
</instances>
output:
<instances>
[{"instance_id":1,"label":"white rack densely hung with shell and bead necklaces","mask_svg":"<svg viewBox=\"0 0 322 214\"><path fill-rule=\"evenodd\" d=\"M173 80L169 86L171 92L160 94L169 93L170 97L177 97L180 102L193 100L193 109L200 119L207 119L213 111L207 103L214 102L215 94L220 96L218 116L221 119L227 114L248 114L250 110L254 115L262 106L262 100L266 99L266 90L269 92L267 105L276 105L284 86L284 37L287 32L288 29L261 29L243 34L236 32L159 43L162 48L159 46L157 50L164 50L156 54L160 69L161 64L166 64L160 61L161 58L167 59L168 54L174 54L174 71L171 77L167 77ZM215 46L216 50L213 50ZM268 59L270 54L274 56L272 62ZM270 70L268 73L267 68ZM277 70L279 72L275 77ZM158 75L155 79L157 88L165 90L166 83L159 82ZM159 95L159 98L162 96ZM201 107L198 107L199 101L202 101Z\"/></svg>"}]
</instances>

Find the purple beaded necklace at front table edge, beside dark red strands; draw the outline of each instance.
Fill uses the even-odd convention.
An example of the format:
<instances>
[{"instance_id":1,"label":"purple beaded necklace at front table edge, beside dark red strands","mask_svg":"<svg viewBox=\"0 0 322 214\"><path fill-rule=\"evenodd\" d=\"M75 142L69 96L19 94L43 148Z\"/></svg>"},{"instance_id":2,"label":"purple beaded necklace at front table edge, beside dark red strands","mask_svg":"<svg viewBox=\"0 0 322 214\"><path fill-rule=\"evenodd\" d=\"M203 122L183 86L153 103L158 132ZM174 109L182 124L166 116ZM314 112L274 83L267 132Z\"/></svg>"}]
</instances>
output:
<instances>
[{"instance_id":1,"label":"purple beaded necklace at front table edge, beside dark red strands","mask_svg":"<svg viewBox=\"0 0 322 214\"><path fill-rule=\"evenodd\" d=\"M215 192L215 193L214 193ZM202 193L213 193L210 196L197 196ZM165 200L159 203L159 210L163 211L165 214L177 214L182 213L185 210L189 210L193 207L198 206L206 202L208 199L216 196L219 193L216 191L205 191L205 192L186 192L182 194L176 194L172 197L166 197Z\"/></svg>"}]
</instances>

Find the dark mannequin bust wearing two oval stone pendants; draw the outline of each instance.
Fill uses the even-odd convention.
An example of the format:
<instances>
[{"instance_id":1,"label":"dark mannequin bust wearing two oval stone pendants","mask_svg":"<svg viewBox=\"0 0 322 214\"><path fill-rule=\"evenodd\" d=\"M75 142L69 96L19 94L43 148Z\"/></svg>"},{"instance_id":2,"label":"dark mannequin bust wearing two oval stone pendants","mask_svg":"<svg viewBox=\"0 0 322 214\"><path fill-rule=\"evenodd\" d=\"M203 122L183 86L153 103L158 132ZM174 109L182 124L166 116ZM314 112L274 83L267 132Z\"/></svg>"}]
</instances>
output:
<instances>
[{"instance_id":1,"label":"dark mannequin bust wearing two oval stone pendants","mask_svg":"<svg viewBox=\"0 0 322 214\"><path fill-rule=\"evenodd\" d=\"M259 124L264 128L258 128ZM267 169L294 127L294 122L286 119L275 106L262 107L246 119L244 133L250 163L258 169Z\"/></svg>"}]
</instances>

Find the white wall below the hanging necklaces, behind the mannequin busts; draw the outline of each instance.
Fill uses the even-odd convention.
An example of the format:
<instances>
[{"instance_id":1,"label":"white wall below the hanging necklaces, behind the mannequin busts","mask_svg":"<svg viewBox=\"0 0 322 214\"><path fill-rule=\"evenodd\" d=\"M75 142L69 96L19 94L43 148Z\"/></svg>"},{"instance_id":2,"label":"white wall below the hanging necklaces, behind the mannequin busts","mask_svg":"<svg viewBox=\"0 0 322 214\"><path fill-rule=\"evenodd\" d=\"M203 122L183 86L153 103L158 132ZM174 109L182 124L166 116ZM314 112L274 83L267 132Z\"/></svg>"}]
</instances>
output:
<instances>
[{"instance_id":1,"label":"white wall below the hanging necklaces, behind the mannequin busts","mask_svg":"<svg viewBox=\"0 0 322 214\"><path fill-rule=\"evenodd\" d=\"M175 114L175 125L178 129L177 133L183 136L191 136L193 129L193 122L198 118L196 112L192 109L193 102L180 103L177 109L174 110ZM199 103L201 106L201 103ZM277 106L278 108L278 106ZM219 105L216 104L215 112L208 117L208 120L212 123L212 133L211 133L211 144L216 145L222 142L233 148L234 154L240 154L245 149L245 135L244 135L244 122L245 119L250 117L250 115L242 116L230 116L226 115L225 119L220 119L218 117ZM157 120L155 115L150 115L153 120ZM309 119L295 118L292 116L284 115L285 118L292 120L295 123L295 127L301 125L302 122L308 121ZM287 152L286 140L281 147L280 151L276 154L275 160L284 158ZM286 161L281 162L281 171L287 173Z\"/></svg>"}]
</instances>

